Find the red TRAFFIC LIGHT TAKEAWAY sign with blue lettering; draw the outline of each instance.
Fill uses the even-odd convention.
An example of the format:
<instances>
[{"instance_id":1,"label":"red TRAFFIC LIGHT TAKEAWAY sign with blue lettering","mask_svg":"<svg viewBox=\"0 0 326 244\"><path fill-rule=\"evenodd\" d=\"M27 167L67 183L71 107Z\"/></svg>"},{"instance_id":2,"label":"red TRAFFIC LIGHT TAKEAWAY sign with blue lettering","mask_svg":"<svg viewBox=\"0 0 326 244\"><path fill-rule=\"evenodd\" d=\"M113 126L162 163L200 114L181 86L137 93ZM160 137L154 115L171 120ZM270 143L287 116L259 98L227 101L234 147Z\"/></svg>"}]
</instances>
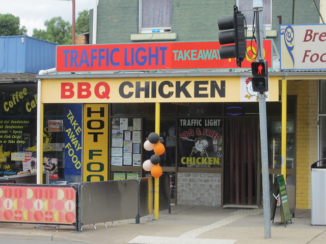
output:
<instances>
[{"instance_id":1,"label":"red TRAFFIC LIGHT TAKEAWAY sign with blue lettering","mask_svg":"<svg viewBox=\"0 0 326 244\"><path fill-rule=\"evenodd\" d=\"M250 68L255 46L247 42ZM264 40L265 59L271 67L272 40ZM218 41L160 42L57 46L57 72L235 69L235 58L221 59Z\"/></svg>"}]
</instances>

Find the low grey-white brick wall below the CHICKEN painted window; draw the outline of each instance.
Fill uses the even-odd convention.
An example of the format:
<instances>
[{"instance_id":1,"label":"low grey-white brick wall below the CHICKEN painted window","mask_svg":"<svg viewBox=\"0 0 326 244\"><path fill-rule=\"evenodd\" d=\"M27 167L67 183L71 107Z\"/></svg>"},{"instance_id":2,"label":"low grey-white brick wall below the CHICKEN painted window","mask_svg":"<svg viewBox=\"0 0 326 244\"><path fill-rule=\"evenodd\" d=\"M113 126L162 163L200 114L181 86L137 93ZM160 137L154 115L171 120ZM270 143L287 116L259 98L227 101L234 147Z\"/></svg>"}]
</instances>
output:
<instances>
[{"instance_id":1,"label":"low grey-white brick wall below the CHICKEN painted window","mask_svg":"<svg viewBox=\"0 0 326 244\"><path fill-rule=\"evenodd\" d=\"M221 206L221 173L178 173L177 203Z\"/></svg>"}]
</instances>

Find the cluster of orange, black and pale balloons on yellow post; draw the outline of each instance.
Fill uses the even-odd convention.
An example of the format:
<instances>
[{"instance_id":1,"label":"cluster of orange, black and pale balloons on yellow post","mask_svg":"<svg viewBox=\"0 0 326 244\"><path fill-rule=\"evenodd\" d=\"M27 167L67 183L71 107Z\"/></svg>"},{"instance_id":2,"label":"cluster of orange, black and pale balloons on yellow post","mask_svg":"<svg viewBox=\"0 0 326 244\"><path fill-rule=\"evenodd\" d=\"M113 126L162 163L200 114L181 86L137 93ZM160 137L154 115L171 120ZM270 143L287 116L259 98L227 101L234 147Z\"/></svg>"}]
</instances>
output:
<instances>
[{"instance_id":1,"label":"cluster of orange, black and pale balloons on yellow post","mask_svg":"<svg viewBox=\"0 0 326 244\"><path fill-rule=\"evenodd\" d=\"M143 169L145 171L151 171L152 176L158 178L162 175L162 168L159 166L159 155L164 154L165 146L159 142L159 135L152 132L148 135L148 140L144 142L144 148L147 151L154 150L155 154L143 163Z\"/></svg>"}]
</instances>

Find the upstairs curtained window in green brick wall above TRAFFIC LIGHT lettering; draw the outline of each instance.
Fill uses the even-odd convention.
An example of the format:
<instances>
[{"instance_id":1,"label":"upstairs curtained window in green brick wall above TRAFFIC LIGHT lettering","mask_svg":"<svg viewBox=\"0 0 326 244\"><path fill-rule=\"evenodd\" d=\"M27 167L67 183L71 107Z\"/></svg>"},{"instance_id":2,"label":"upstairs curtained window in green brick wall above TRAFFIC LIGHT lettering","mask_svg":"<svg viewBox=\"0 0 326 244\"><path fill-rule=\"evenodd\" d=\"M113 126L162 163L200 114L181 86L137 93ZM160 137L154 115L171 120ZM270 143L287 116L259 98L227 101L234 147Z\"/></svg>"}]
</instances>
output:
<instances>
[{"instance_id":1,"label":"upstairs curtained window in green brick wall above TRAFFIC LIGHT lettering","mask_svg":"<svg viewBox=\"0 0 326 244\"><path fill-rule=\"evenodd\" d=\"M172 0L140 0L140 33L171 32Z\"/></svg>"}]
</instances>

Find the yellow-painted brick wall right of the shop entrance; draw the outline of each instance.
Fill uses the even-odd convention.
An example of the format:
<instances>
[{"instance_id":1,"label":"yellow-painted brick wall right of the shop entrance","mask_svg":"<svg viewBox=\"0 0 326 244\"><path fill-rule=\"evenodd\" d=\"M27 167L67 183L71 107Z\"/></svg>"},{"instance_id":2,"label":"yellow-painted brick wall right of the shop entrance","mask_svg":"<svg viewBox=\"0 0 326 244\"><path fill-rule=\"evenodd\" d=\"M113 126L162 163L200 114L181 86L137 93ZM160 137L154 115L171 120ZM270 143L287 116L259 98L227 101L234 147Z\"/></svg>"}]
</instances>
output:
<instances>
[{"instance_id":1,"label":"yellow-painted brick wall right of the shop entrance","mask_svg":"<svg viewBox=\"0 0 326 244\"><path fill-rule=\"evenodd\" d=\"M310 166L317 161L317 80L287 81L288 95L297 95L296 208L311 208Z\"/></svg>"}]
</instances>

